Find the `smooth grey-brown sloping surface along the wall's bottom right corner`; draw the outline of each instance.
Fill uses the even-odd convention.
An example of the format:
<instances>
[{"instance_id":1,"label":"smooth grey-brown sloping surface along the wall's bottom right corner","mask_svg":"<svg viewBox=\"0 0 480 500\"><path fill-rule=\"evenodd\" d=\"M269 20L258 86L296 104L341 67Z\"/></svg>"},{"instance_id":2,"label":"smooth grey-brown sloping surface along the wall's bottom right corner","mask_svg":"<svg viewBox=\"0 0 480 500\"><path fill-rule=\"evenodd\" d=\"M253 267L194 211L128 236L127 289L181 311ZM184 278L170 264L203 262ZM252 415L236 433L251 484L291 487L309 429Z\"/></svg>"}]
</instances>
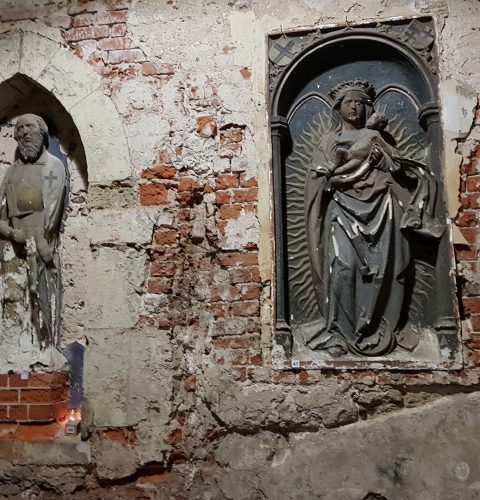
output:
<instances>
[{"instance_id":1,"label":"smooth grey-brown sloping surface along the wall's bottom right corner","mask_svg":"<svg viewBox=\"0 0 480 500\"><path fill-rule=\"evenodd\" d=\"M474 500L480 494L480 396L445 397L339 430L226 436L227 498ZM261 492L261 493L260 493ZM376 498L371 496L370 498ZM378 498L382 498L379 496Z\"/></svg>"}]
</instances>

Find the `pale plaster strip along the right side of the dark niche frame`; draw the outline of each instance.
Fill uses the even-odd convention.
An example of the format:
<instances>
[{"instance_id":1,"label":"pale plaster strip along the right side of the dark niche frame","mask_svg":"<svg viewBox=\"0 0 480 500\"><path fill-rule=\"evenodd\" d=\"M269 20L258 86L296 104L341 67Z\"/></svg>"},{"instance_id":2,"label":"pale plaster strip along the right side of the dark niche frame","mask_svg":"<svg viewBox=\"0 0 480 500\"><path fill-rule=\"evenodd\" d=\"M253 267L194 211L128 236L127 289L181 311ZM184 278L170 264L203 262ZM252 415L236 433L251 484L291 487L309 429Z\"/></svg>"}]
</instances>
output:
<instances>
[{"instance_id":1,"label":"pale plaster strip along the right side of the dark niche frame","mask_svg":"<svg viewBox=\"0 0 480 500\"><path fill-rule=\"evenodd\" d=\"M468 137L473 127L478 96L469 85L450 77L440 80L439 97L442 109L446 208L449 218L454 220L461 208L459 188L460 166L463 161L463 156L457 153L457 146L459 140ZM468 245L457 225L453 223L451 227L452 243Z\"/></svg>"}]
</instances>

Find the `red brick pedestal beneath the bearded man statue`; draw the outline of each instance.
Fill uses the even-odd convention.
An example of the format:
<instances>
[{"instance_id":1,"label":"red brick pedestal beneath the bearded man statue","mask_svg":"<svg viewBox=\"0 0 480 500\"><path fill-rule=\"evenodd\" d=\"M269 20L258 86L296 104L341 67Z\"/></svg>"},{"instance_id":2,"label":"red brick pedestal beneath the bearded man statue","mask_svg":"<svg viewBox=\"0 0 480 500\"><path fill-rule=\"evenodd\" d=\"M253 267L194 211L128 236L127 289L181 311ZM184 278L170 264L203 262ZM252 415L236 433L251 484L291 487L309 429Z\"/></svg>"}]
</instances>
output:
<instances>
[{"instance_id":1,"label":"red brick pedestal beneath the bearded man statue","mask_svg":"<svg viewBox=\"0 0 480 500\"><path fill-rule=\"evenodd\" d=\"M0 375L0 421L50 422L65 416L68 373Z\"/></svg>"}]
</instances>

